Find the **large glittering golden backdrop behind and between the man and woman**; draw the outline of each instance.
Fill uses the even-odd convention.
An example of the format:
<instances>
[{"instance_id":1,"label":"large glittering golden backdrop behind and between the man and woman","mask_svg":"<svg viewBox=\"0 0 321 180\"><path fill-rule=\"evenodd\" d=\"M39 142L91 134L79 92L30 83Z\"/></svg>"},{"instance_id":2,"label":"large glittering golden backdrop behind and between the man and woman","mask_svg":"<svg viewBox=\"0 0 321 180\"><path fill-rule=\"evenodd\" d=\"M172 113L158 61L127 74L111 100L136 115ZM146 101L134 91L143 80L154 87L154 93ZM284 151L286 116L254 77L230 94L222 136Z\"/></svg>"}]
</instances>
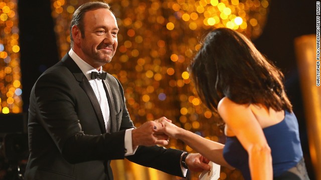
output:
<instances>
[{"instance_id":1,"label":"large glittering golden backdrop behind and between the man and woman","mask_svg":"<svg viewBox=\"0 0 321 180\"><path fill-rule=\"evenodd\" d=\"M60 56L70 48L69 22L89 0L52 0ZM135 126L161 116L203 137L224 143L218 117L201 102L186 71L204 33L215 27L236 29L250 38L262 32L269 0L106 0L120 31L118 50L104 70L125 91ZM182 141L167 147L193 152ZM112 162L115 179L180 179L127 160ZM192 173L191 179L198 179ZM221 168L221 179L243 179L237 170Z\"/></svg>"}]
</instances>

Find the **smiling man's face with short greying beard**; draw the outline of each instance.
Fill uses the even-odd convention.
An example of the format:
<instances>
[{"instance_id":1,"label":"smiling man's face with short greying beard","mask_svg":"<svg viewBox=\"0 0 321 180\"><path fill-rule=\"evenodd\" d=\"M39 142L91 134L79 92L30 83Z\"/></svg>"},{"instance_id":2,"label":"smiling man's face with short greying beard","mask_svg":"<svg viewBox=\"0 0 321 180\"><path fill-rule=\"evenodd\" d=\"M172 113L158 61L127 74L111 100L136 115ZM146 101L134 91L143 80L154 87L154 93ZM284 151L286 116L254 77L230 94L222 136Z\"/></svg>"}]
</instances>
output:
<instances>
[{"instance_id":1,"label":"smiling man's face with short greying beard","mask_svg":"<svg viewBox=\"0 0 321 180\"><path fill-rule=\"evenodd\" d=\"M84 35L80 48L83 59L94 66L111 61L118 45L118 26L115 16L106 8L87 11L83 18Z\"/></svg>"}]
</instances>

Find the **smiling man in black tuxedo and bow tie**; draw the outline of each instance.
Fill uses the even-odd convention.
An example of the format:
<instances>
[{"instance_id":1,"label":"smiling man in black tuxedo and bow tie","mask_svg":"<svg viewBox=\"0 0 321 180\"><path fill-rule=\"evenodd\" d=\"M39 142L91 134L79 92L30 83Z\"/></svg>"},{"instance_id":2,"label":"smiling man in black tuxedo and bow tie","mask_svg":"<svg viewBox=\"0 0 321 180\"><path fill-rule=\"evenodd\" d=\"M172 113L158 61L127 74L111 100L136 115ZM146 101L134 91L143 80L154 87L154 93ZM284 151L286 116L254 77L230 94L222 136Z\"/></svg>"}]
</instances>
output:
<instances>
[{"instance_id":1,"label":"smiling man in black tuxedo and bow tie","mask_svg":"<svg viewBox=\"0 0 321 180\"><path fill-rule=\"evenodd\" d=\"M102 70L117 47L118 26L107 3L80 6L70 31L70 51L31 92L26 179L111 180L110 160L124 157L182 177L187 168L210 168L198 153L155 145L168 144L167 135L155 132L157 121L134 127L120 82Z\"/></svg>"}]
</instances>

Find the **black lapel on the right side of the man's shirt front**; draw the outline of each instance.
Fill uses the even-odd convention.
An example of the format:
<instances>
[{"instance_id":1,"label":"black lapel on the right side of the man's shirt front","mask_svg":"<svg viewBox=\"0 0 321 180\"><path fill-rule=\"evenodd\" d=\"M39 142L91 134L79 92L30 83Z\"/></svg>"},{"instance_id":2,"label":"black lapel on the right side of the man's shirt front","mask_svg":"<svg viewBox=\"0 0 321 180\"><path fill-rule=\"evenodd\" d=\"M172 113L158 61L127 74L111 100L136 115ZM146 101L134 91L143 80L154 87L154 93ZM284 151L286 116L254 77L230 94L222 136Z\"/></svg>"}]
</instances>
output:
<instances>
[{"instance_id":1,"label":"black lapel on the right side of the man's shirt front","mask_svg":"<svg viewBox=\"0 0 321 180\"><path fill-rule=\"evenodd\" d=\"M108 80L108 76L107 76ZM110 111L110 132L115 132L117 131L117 127L119 126L118 122L116 121L116 111L115 111L115 104L114 104L114 99L112 97L112 93L110 90L110 86L108 84L107 80L103 80L103 85L106 91L107 95L107 100L108 100L108 105L109 105L109 111Z\"/></svg>"}]
</instances>

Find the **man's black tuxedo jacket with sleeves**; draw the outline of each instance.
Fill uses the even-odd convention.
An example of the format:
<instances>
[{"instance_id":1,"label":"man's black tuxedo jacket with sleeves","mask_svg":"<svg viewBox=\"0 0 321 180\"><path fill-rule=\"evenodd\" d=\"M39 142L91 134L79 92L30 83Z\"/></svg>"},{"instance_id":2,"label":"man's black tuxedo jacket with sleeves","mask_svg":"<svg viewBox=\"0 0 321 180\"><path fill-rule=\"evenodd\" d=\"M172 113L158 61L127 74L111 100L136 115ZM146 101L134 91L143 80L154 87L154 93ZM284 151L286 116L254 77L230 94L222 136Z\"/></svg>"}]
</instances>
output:
<instances>
[{"instance_id":1,"label":"man's black tuxedo jacket with sleeves","mask_svg":"<svg viewBox=\"0 0 321 180\"><path fill-rule=\"evenodd\" d=\"M104 80L110 108L110 133L89 81L74 60L64 58L46 70L30 95L30 157L25 179L113 179L111 159L123 159L125 129L134 127L120 82ZM182 176L183 151L139 146L135 163Z\"/></svg>"}]
</instances>

